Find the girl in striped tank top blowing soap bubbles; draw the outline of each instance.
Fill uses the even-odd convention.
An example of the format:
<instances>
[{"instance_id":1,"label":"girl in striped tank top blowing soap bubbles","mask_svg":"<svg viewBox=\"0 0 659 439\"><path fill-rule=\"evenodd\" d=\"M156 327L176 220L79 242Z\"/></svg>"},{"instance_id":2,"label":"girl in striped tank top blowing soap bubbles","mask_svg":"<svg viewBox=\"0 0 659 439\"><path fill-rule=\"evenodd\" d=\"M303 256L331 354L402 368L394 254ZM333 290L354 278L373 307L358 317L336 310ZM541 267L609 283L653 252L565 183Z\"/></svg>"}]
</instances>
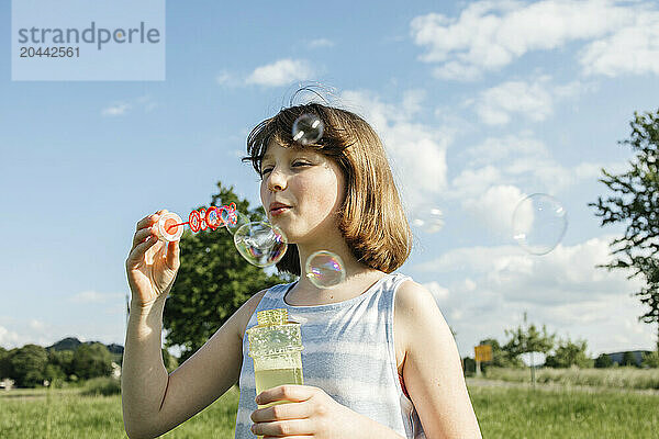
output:
<instances>
[{"instance_id":1,"label":"girl in striped tank top blowing soap bubbles","mask_svg":"<svg viewBox=\"0 0 659 439\"><path fill-rule=\"evenodd\" d=\"M291 135L302 114L325 127L306 146ZM261 177L268 218L289 240L278 269L300 275L310 255L330 250L343 259L345 281L326 290L301 275L256 293L168 375L161 316L179 247L169 243L165 251L154 237L150 226L165 211L141 219L126 260L133 293L122 373L129 436L170 430L239 380L239 439L480 438L448 325L426 289L394 273L410 255L411 232L373 130L354 113L310 103L261 122L247 147L244 160ZM287 308L302 324L304 385L256 395L245 330L269 308ZM275 401L290 403L257 409Z\"/></svg>"}]
</instances>

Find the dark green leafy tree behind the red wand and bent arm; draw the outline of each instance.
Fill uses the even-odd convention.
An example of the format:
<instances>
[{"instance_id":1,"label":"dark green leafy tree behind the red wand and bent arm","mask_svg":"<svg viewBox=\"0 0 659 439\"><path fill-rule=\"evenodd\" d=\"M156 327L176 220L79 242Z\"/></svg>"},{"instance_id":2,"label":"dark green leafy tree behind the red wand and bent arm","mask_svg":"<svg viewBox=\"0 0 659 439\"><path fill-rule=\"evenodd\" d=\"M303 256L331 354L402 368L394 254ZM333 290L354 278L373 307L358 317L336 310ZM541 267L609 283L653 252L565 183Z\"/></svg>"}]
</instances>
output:
<instances>
[{"instance_id":1,"label":"dark green leafy tree behind the red wand and bent arm","mask_svg":"<svg viewBox=\"0 0 659 439\"><path fill-rule=\"evenodd\" d=\"M249 203L238 200L233 187L227 189L217 182L217 188L211 205L234 202L237 211L250 221L265 217L261 207L249 211ZM166 346L181 348L180 362L194 353L253 294L291 280L287 275L267 275L264 269L249 264L225 228L197 234L186 230L180 250L181 266L164 314Z\"/></svg>"}]
</instances>

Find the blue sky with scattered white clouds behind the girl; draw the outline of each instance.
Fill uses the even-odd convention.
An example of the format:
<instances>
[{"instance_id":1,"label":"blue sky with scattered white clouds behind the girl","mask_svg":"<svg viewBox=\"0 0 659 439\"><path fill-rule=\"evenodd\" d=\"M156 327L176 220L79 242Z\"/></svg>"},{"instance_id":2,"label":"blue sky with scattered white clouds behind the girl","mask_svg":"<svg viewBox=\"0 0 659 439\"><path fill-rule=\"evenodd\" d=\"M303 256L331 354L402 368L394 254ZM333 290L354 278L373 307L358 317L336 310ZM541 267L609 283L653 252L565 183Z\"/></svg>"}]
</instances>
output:
<instances>
[{"instance_id":1,"label":"blue sky with scattered white clouds behind the girl","mask_svg":"<svg viewBox=\"0 0 659 439\"><path fill-rule=\"evenodd\" d=\"M304 81L373 125L411 216L443 211L399 271L433 292L463 356L525 311L592 354L654 346L638 281L594 268L622 228L587 204L600 168L625 169L634 111L658 106L655 3L169 1L165 81L12 81L10 2L0 16L0 346L123 344L136 221L186 216L219 180L258 203L246 135ZM536 192L569 216L545 256L510 233Z\"/></svg>"}]
</instances>

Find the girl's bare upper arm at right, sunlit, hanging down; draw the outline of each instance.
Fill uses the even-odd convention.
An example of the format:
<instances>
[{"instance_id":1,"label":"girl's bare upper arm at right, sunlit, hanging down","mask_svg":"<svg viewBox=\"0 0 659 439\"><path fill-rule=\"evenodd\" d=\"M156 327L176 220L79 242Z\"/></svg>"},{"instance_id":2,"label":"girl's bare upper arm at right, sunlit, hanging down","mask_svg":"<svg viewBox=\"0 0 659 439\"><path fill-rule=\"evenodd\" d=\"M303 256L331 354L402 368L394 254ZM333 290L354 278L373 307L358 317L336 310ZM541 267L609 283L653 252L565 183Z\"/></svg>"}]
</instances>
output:
<instances>
[{"instance_id":1,"label":"girl's bare upper arm at right, sunlit, hanging down","mask_svg":"<svg viewBox=\"0 0 659 439\"><path fill-rule=\"evenodd\" d=\"M458 349L433 295L416 282L400 285L395 314L403 323L403 379L428 439L481 438Z\"/></svg>"}]
</instances>

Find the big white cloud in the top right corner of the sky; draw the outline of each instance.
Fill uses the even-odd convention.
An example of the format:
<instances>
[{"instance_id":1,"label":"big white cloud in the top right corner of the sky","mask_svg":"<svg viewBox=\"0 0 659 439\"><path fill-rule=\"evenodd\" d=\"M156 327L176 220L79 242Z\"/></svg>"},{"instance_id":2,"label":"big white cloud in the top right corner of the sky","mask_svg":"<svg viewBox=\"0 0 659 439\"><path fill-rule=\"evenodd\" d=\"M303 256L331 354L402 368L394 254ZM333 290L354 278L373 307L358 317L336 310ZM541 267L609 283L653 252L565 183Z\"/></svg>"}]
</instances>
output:
<instances>
[{"instance_id":1,"label":"big white cloud in the top right corner of the sky","mask_svg":"<svg viewBox=\"0 0 659 439\"><path fill-rule=\"evenodd\" d=\"M635 72L632 66L657 72L654 8L612 0L478 1L458 18L429 13L410 26L414 43L427 48L421 60L440 64L434 75L442 79L474 80L528 52L571 42L591 43L582 56L585 72Z\"/></svg>"}]
</instances>

